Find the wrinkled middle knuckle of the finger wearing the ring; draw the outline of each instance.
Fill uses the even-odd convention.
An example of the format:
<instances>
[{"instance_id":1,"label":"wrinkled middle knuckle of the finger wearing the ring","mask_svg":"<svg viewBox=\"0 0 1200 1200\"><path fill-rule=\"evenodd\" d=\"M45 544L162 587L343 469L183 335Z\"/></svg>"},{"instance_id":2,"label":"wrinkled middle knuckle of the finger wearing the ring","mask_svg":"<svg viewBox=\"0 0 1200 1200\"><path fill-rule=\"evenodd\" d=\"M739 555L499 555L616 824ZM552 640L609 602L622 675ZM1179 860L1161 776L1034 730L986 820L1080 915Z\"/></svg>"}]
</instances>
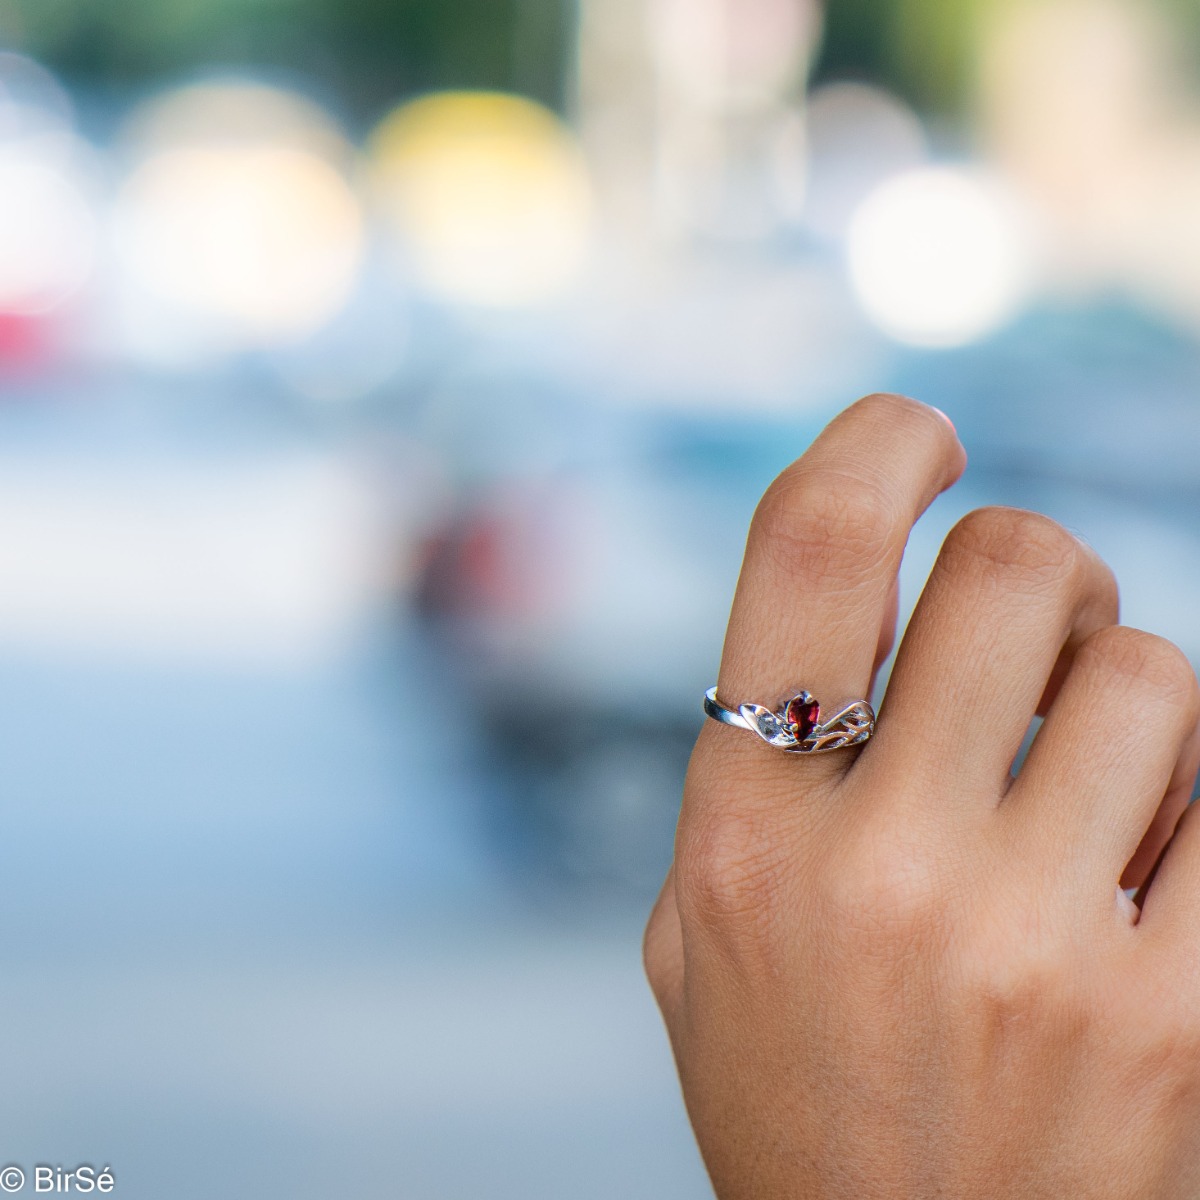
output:
<instances>
[{"instance_id":1,"label":"wrinkled middle knuckle of the finger wearing the ring","mask_svg":"<svg viewBox=\"0 0 1200 1200\"><path fill-rule=\"evenodd\" d=\"M884 560L895 527L877 484L796 463L760 502L751 540L790 574L853 583Z\"/></svg>"}]
</instances>

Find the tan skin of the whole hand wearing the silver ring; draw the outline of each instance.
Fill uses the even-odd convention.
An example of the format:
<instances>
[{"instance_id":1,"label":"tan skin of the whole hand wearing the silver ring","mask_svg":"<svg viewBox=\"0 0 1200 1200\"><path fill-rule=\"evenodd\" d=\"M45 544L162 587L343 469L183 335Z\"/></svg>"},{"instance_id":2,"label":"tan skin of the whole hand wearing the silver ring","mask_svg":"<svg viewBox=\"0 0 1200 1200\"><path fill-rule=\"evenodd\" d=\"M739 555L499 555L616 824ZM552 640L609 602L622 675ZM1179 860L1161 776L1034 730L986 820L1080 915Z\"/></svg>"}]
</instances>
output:
<instances>
[{"instance_id":1,"label":"tan skin of the whole hand wearing the silver ring","mask_svg":"<svg viewBox=\"0 0 1200 1200\"><path fill-rule=\"evenodd\" d=\"M916 401L834 420L755 515L721 698L870 696L964 466ZM1200 688L1116 620L1087 546L980 509L864 746L706 722L646 966L720 1200L1200 1195Z\"/></svg>"}]
</instances>

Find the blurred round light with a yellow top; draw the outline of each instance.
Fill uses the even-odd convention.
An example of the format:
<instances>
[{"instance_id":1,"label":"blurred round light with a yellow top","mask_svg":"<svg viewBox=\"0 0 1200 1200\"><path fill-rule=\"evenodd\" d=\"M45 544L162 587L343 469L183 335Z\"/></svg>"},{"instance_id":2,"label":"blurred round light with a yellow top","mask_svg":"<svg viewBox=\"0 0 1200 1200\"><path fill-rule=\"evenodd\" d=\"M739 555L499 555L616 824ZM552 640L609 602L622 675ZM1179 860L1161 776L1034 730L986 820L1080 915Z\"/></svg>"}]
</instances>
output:
<instances>
[{"instance_id":1,"label":"blurred round light with a yellow top","mask_svg":"<svg viewBox=\"0 0 1200 1200\"><path fill-rule=\"evenodd\" d=\"M416 281L450 301L551 299L587 260L592 194L566 127L528 100L444 92L372 137L377 194Z\"/></svg>"}]
</instances>

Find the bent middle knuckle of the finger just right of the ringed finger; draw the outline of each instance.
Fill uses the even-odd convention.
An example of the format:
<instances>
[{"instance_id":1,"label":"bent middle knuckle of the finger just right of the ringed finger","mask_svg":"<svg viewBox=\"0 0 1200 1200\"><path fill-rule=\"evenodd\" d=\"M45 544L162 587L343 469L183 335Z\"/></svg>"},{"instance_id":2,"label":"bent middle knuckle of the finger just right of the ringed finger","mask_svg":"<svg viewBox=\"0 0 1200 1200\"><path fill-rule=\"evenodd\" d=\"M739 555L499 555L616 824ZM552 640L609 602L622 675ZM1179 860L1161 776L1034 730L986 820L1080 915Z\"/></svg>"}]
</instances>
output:
<instances>
[{"instance_id":1,"label":"bent middle knuckle of the finger just right of the ringed finger","mask_svg":"<svg viewBox=\"0 0 1200 1200\"><path fill-rule=\"evenodd\" d=\"M1082 544L1057 521L1002 506L968 512L950 530L943 553L1034 590L1074 580L1086 560Z\"/></svg>"}]
</instances>

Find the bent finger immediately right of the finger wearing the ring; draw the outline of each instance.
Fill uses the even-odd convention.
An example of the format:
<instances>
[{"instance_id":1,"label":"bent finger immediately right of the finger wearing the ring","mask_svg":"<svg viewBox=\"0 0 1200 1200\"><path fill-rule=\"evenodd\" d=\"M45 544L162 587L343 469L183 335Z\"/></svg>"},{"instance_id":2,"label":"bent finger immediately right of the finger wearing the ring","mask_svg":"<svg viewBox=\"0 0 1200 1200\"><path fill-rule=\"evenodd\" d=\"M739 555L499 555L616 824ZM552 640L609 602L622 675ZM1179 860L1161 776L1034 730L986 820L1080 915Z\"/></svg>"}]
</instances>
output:
<instances>
[{"instance_id":1,"label":"bent finger immediately right of the finger wearing the ring","mask_svg":"<svg viewBox=\"0 0 1200 1200\"><path fill-rule=\"evenodd\" d=\"M1116 620L1112 572L1062 526L1020 509L967 515L908 624L862 764L900 761L995 800L1076 647Z\"/></svg>"}]
</instances>

